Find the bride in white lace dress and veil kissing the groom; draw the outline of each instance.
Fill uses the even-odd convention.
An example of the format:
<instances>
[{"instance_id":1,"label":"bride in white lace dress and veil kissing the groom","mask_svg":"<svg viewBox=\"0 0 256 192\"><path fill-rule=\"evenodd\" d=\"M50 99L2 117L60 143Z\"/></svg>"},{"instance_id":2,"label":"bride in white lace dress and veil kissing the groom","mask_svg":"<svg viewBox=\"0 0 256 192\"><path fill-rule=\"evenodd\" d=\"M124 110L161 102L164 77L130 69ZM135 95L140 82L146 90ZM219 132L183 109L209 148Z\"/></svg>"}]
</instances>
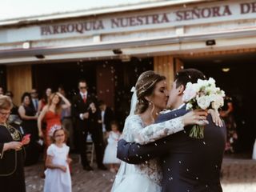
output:
<instances>
[{"instance_id":1,"label":"bride in white lace dress and veil kissing the groom","mask_svg":"<svg viewBox=\"0 0 256 192\"><path fill-rule=\"evenodd\" d=\"M177 133L190 124L206 125L205 110L190 111L182 117L154 124L159 112L166 108L167 100L166 78L154 71L142 73L136 82L130 115L126 118L122 138L127 142L146 144ZM141 165L121 162L111 191L160 192L162 171L158 165L158 159Z\"/></svg>"}]
</instances>

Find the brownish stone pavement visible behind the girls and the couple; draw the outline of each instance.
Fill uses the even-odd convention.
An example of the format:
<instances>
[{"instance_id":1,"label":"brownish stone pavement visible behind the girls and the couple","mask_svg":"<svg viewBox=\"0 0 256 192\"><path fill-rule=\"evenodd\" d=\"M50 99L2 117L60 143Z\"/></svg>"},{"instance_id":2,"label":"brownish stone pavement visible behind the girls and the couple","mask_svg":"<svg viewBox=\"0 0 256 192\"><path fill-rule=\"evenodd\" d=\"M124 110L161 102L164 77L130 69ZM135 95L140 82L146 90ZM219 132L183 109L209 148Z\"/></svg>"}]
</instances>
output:
<instances>
[{"instance_id":1,"label":"brownish stone pavement visible behind the girls and the couple","mask_svg":"<svg viewBox=\"0 0 256 192\"><path fill-rule=\"evenodd\" d=\"M72 164L73 192L110 191L114 182L114 174L97 168L87 172L82 170L78 162L78 154L73 154L72 158L74 159ZM39 177L41 172L42 162L25 168L27 192L42 191L44 179ZM224 192L256 192L256 161L254 160L224 158L222 176Z\"/></svg>"}]
</instances>

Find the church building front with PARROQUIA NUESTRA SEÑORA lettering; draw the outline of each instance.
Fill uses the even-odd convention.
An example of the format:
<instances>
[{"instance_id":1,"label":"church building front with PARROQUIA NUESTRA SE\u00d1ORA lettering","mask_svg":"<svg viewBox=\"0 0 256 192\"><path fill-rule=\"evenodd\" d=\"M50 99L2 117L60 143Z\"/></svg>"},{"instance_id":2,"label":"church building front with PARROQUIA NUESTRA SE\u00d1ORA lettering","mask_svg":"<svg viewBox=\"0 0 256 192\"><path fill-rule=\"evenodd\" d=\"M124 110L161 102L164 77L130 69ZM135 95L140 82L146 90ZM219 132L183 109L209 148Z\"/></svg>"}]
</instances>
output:
<instances>
[{"instance_id":1,"label":"church building front with PARROQUIA NUESTRA SE\u00d1ORA lettering","mask_svg":"<svg viewBox=\"0 0 256 192\"><path fill-rule=\"evenodd\" d=\"M86 78L99 99L116 110L124 105L122 111L143 70L166 75L170 85L178 70L196 67L248 106L256 82L255 18L254 0L187 0L0 21L1 86L19 102L32 87L65 84L73 91Z\"/></svg>"}]
</instances>

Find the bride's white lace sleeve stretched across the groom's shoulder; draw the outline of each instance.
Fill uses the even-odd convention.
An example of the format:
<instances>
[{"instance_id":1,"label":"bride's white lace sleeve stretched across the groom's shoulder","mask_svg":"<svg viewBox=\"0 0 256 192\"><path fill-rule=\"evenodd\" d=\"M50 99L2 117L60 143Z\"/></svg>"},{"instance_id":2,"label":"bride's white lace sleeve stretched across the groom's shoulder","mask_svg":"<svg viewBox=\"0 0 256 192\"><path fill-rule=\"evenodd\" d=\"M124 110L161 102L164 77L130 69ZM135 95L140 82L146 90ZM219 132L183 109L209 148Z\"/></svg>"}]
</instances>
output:
<instances>
[{"instance_id":1,"label":"bride's white lace sleeve stretched across the groom's shoulder","mask_svg":"<svg viewBox=\"0 0 256 192\"><path fill-rule=\"evenodd\" d=\"M144 127L142 119L139 118L139 116L134 115L128 121L126 121L125 128L125 130L129 132L129 135L133 136L132 139L129 139L130 137L124 137L126 141L129 140L129 142L138 142L139 144L144 145L184 130L184 125L182 123L182 118L179 117L166 122L159 122ZM127 133L124 133L124 136L128 136L125 134Z\"/></svg>"}]
</instances>

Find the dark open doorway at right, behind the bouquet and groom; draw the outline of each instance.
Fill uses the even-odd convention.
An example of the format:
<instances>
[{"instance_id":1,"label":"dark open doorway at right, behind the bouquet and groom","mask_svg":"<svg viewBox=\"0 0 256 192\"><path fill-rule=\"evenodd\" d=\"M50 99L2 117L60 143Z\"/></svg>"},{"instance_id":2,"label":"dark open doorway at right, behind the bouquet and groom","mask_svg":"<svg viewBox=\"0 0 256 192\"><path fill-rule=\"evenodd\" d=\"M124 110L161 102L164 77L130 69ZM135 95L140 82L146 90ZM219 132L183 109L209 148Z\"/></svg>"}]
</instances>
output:
<instances>
[{"instance_id":1,"label":"dark open doorway at right, behind the bouquet and groom","mask_svg":"<svg viewBox=\"0 0 256 192\"><path fill-rule=\"evenodd\" d=\"M237 123L238 149L252 150L256 135L256 54L226 54L181 58L185 68L196 68L216 80L234 105Z\"/></svg>"}]
</instances>

